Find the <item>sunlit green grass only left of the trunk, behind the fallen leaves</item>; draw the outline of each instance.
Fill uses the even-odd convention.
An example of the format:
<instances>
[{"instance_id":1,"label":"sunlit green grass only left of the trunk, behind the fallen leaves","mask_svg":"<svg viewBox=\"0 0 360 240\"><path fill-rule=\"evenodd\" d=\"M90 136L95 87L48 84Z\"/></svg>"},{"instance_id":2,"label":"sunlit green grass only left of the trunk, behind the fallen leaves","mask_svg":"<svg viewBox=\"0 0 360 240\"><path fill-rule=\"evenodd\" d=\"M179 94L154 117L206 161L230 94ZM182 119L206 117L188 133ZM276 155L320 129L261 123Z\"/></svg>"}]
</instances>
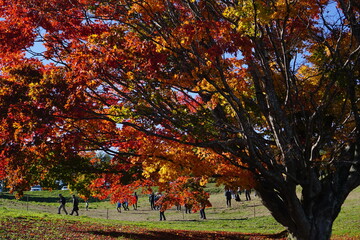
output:
<instances>
[{"instance_id":1,"label":"sunlit green grass only left of the trunk, behind the fallen leaves","mask_svg":"<svg viewBox=\"0 0 360 240\"><path fill-rule=\"evenodd\" d=\"M226 209L224 206L221 208L217 208L218 205L221 205L224 202L224 194L223 188L216 187L215 185L211 186L209 192L212 195L214 203L214 207L208 208L206 210L208 220L199 220L199 213L192 213L184 215L181 212L177 212L175 210L166 211L166 217L168 219L176 219L173 221L158 221L158 213L151 212L150 216L144 218L146 221L117 221L117 220L107 220L107 219L98 219L98 218L89 218L89 217L80 217L77 218L79 221L89 221L89 222L101 222L106 224L126 224L144 228L160 228L160 229L177 229L177 230L205 230L205 231L234 231L234 232L245 232L245 233L276 233L284 230L280 224L278 224L271 216L259 216L253 217L253 208L244 206L237 206L231 209ZM54 209L54 213L56 212L56 207L58 206L58 194L62 193L64 196L70 196L70 191L39 191L39 192L25 192L25 195L20 200L15 200L10 194L3 193L0 194L0 206L2 196L5 196L6 199L9 199L7 203L3 203L3 205L8 206L9 202L20 201L24 205L28 204L30 207L28 209L32 209L33 206L52 206ZM70 201L70 197L68 197ZM245 203L244 203L245 204ZM251 204L249 202L249 204ZM147 207L148 205L148 197L147 195L139 195L139 205ZM103 210L105 212L106 209L110 209L110 211L114 210L114 205L110 204L108 201L99 201L99 202L91 202L90 203L90 211L92 209ZM25 206L24 206L25 208ZM26 209L25 209L26 210ZM68 209L69 210L69 209ZM11 213L11 211L6 210L2 211L0 214L7 215ZM241 212L241 214L239 214ZM57 215L50 213L33 213L31 211L15 211L14 214L35 214L40 217L48 217L48 218L67 218L65 215ZM126 214L126 213L122 213ZM6 215L6 214L5 214ZM71 217L70 217L71 218ZM73 219L73 218L71 218Z\"/></svg>"}]
</instances>

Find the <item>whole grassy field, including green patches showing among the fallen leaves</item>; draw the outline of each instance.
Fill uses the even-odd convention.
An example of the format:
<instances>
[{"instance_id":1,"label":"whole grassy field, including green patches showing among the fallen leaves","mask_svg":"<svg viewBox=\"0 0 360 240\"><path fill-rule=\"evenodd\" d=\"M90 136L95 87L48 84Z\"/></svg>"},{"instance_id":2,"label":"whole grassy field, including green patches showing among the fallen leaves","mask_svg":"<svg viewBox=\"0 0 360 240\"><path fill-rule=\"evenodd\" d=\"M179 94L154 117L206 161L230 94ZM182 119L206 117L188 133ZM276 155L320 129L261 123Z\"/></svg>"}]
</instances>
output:
<instances>
[{"instance_id":1,"label":"whole grassy field, including green patches showing among the fallen leaves","mask_svg":"<svg viewBox=\"0 0 360 240\"><path fill-rule=\"evenodd\" d=\"M80 217L58 215L58 194L62 193L70 201L70 191L41 191L41 192L26 192L25 196L20 200L15 200L12 195L6 193L0 193L0 221L2 228L0 229L0 239L21 239L21 238L5 238L5 232L11 232L7 229L7 226L16 227L21 222L35 223L38 225L51 227L57 222L62 222L64 226L70 224L71 226L82 226L80 232L96 232L96 229L103 230L104 234L96 235L92 238L87 236L85 238L75 239L102 239L106 235L111 239L112 235L116 239L119 237L125 237L123 239L142 239L139 237L129 238L131 231L149 233L167 231L177 234L182 233L181 230L187 231L219 231L219 232L238 232L242 233L241 236L248 236L246 234L256 234L260 237L261 234L269 237L271 234L276 234L285 230L284 227L279 225L269 214L266 208L264 208L260 202L260 199L254 197L251 201L233 201L231 208L225 206L225 197L221 188L211 187L211 202L213 206L206 209L207 220L200 220L198 213L184 214L183 211L176 211L176 209L170 209L166 211L167 221L158 221L159 213L157 211L150 210L148 198L146 195L140 195L139 208L137 211L130 208L130 211L122 211L118 213L114 204L108 201L90 201L89 211L85 211L84 204L80 206ZM243 197L243 196L241 196ZM334 239L360 239L360 188L356 189L350 194L344 207L334 223L333 236ZM70 204L68 204L68 211L70 210ZM22 226L20 224L20 226ZM39 226L34 226L31 230L41 229ZM121 226L121 227L120 227ZM118 230L123 229L126 226L128 234L126 236L119 235ZM89 229L91 227L91 229ZM92 229L95 227L95 229ZM58 229L55 224L54 229ZM110 230L109 230L110 229ZM144 230L146 229L146 230ZM164 229L164 230L159 230ZM125 230L121 230L124 232ZM18 234L19 231L14 229L14 232ZM45 234L46 230L42 231ZM51 232L50 230L48 232ZM68 234L74 234L72 230L63 230ZM75 231L76 232L76 231ZM60 234L60 233L57 233ZM245 234L245 235L244 235ZM106 237L105 236L105 237ZM149 235L144 235L143 239L152 239ZM240 235L237 235L238 239ZM50 237L47 237L50 238ZM275 237L274 237L275 238ZM50 238L52 239L52 238ZM61 238L59 238L61 239ZM122 238L120 238L122 239ZM154 238L156 239L156 238ZM181 238L174 238L181 239ZM189 237L185 237L189 239ZM191 238L190 238L191 239ZM198 239L212 239L212 238L198 238ZM218 236L216 239L221 239ZM231 239L227 236L224 239ZM246 238L244 238L246 239ZM250 239L250 238L248 238ZM261 239L261 238L259 238Z\"/></svg>"}]
</instances>

